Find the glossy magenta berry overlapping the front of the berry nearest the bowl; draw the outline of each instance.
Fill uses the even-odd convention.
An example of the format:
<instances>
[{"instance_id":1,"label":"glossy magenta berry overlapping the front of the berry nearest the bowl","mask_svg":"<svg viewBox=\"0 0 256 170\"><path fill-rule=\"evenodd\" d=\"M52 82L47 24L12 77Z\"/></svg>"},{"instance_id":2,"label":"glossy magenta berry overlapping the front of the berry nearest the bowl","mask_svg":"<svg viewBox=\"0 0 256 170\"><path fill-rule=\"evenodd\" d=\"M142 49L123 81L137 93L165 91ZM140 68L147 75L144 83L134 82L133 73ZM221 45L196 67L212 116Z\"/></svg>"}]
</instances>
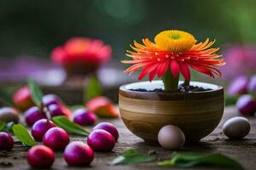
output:
<instances>
[{"instance_id":1,"label":"glossy magenta berry overlapping the front of the berry nearest the bowl","mask_svg":"<svg viewBox=\"0 0 256 170\"><path fill-rule=\"evenodd\" d=\"M113 149L115 139L112 134L102 129L96 129L87 138L87 144L92 150L109 151Z\"/></svg>"}]
</instances>

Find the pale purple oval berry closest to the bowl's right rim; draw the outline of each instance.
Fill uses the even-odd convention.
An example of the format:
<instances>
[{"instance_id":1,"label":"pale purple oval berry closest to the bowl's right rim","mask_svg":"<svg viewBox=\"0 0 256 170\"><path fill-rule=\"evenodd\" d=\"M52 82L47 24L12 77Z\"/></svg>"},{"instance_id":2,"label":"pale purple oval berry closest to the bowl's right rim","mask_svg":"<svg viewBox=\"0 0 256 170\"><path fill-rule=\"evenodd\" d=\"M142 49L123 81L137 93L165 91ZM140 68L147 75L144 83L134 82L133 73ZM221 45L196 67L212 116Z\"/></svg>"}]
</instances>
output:
<instances>
[{"instance_id":1,"label":"pale purple oval berry closest to the bowl's right rim","mask_svg":"<svg viewBox=\"0 0 256 170\"><path fill-rule=\"evenodd\" d=\"M235 80L230 82L230 86L228 88L228 94L237 95L237 94L245 94L247 92L248 85L248 77L241 76L237 77Z\"/></svg>"}]
</instances>

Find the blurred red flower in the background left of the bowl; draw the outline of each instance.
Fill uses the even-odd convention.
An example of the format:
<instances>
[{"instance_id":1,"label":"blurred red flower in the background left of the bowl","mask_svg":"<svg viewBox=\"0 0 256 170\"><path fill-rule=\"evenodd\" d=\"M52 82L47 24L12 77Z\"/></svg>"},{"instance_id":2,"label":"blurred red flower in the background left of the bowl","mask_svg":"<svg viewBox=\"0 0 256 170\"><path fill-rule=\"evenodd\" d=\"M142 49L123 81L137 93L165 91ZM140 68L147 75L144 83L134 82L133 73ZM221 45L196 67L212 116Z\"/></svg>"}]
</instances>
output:
<instances>
[{"instance_id":1,"label":"blurred red flower in the background left of the bowl","mask_svg":"<svg viewBox=\"0 0 256 170\"><path fill-rule=\"evenodd\" d=\"M68 75L86 75L95 72L100 65L107 62L111 54L111 47L102 40L73 37L63 46L54 48L51 58Z\"/></svg>"}]
</instances>

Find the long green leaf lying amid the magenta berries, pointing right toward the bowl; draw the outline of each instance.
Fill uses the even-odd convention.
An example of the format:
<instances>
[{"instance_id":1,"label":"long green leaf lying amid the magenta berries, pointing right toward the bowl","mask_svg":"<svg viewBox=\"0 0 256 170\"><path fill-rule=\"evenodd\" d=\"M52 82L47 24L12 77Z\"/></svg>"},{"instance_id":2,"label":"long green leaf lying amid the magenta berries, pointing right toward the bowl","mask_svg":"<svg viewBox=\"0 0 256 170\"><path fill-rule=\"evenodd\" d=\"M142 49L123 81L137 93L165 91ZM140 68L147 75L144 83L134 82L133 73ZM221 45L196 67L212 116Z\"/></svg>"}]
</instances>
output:
<instances>
[{"instance_id":1,"label":"long green leaf lying amid the magenta berries, pointing right toward the bowl","mask_svg":"<svg viewBox=\"0 0 256 170\"><path fill-rule=\"evenodd\" d=\"M83 136L88 136L90 133L86 131L79 124L71 122L67 116L54 116L52 121L56 126L63 128L67 133L79 134Z\"/></svg>"}]
</instances>

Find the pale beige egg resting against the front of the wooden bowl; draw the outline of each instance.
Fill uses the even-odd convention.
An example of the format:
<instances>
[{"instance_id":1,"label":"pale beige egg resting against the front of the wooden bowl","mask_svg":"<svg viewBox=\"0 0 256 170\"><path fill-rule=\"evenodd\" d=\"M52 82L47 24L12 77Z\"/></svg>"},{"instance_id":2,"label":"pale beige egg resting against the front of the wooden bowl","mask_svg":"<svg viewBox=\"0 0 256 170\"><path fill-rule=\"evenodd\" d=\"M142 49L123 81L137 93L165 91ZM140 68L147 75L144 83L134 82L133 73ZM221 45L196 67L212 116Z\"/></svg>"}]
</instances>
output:
<instances>
[{"instance_id":1,"label":"pale beige egg resting against the front of the wooden bowl","mask_svg":"<svg viewBox=\"0 0 256 170\"><path fill-rule=\"evenodd\" d=\"M178 127L166 125L158 133L158 142L167 150L178 150L185 144L185 135Z\"/></svg>"}]
</instances>

